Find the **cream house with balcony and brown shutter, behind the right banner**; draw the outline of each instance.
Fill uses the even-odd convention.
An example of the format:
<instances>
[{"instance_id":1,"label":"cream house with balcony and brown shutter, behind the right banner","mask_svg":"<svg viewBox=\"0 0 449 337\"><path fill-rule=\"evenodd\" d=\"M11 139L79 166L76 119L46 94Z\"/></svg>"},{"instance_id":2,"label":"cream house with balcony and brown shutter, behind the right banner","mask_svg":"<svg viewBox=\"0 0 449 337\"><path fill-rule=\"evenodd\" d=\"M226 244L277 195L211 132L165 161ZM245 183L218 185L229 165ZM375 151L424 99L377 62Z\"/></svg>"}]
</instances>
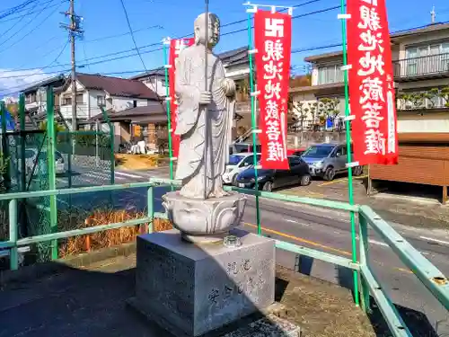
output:
<instances>
[{"instance_id":1,"label":"cream house with balcony and brown shutter, behind the right banner","mask_svg":"<svg viewBox=\"0 0 449 337\"><path fill-rule=\"evenodd\" d=\"M432 23L391 34L397 97L399 165L370 167L370 179L449 185L449 24ZM316 121L322 99L334 99L344 114L342 52L304 58L312 65L312 85L290 93L306 119Z\"/></svg>"}]
</instances>

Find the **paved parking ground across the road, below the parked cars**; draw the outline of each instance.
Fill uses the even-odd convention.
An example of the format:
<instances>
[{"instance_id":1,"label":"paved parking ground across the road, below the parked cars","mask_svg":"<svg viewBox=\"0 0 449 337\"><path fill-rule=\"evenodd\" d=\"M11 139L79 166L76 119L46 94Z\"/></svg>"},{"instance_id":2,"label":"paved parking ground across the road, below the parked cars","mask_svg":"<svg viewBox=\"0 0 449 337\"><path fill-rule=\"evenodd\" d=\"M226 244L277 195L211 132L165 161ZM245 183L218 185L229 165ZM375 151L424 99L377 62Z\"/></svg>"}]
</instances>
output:
<instances>
[{"instance_id":1,"label":"paved parking ground across the road, below the parked cars","mask_svg":"<svg viewBox=\"0 0 449 337\"><path fill-rule=\"evenodd\" d=\"M430 191L423 194L422 187L410 186L404 190L404 184L388 191L366 194L367 176L354 178L354 202L360 205L369 205L381 217L408 226L441 227L449 229L449 205L442 205L437 195ZM391 185L391 184L390 184ZM421 190L421 191L419 191ZM285 194L317 199L338 200L348 202L348 177L338 176L334 181L325 182L316 178L309 186L294 186L279 191Z\"/></svg>"}]
</instances>

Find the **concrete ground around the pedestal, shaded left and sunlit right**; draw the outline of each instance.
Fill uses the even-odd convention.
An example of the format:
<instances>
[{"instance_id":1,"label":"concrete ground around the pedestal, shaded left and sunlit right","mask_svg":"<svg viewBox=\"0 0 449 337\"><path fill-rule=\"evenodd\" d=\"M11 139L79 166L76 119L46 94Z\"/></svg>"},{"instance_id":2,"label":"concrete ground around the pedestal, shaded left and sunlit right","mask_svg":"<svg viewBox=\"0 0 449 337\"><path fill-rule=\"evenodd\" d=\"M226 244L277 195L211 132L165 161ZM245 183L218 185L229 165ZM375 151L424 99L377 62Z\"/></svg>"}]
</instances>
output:
<instances>
[{"instance_id":1,"label":"concrete ground around the pedestal, shaded left and sunlit right","mask_svg":"<svg viewBox=\"0 0 449 337\"><path fill-rule=\"evenodd\" d=\"M0 337L171 336L126 304L134 296L135 263L130 254L10 280L0 291ZM387 335L354 306L347 289L282 267L277 277L283 318L300 325L304 337Z\"/></svg>"}]
</instances>

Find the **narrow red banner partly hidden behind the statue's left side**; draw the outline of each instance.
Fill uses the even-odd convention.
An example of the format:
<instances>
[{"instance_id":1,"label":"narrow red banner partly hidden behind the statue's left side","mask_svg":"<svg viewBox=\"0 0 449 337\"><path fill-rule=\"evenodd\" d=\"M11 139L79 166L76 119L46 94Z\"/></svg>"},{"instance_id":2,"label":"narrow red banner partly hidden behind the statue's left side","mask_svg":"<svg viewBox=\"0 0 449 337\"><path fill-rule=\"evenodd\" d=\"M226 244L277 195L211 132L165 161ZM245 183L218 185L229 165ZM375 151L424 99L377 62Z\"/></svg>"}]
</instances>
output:
<instances>
[{"instance_id":1,"label":"narrow red banner partly hidden behind the statue's left side","mask_svg":"<svg viewBox=\"0 0 449 337\"><path fill-rule=\"evenodd\" d=\"M189 39L173 39L170 41L170 55L169 64L172 66L169 69L169 90L170 90L170 111L171 111L171 127L172 127L172 156L178 157L180 149L180 136L174 134L178 121L178 104L174 96L174 84L176 74L176 58L180 55L180 50L191 46L195 42L194 38Z\"/></svg>"}]
</instances>

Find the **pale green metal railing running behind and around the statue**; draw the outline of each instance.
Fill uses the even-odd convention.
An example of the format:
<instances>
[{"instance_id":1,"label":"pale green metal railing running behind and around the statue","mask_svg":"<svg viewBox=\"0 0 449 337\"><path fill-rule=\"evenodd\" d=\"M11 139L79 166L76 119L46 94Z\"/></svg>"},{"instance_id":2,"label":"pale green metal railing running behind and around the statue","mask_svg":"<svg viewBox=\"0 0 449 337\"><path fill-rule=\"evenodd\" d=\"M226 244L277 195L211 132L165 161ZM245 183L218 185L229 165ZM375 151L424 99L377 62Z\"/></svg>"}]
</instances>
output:
<instances>
[{"instance_id":1,"label":"pale green metal railing running behind and around the statue","mask_svg":"<svg viewBox=\"0 0 449 337\"><path fill-rule=\"evenodd\" d=\"M180 182L172 181L169 179L151 179L150 182L136 182L122 185L108 185L108 186L94 186L65 190L51 190L51 191L31 191L31 192L19 192L8 193L0 195L0 201L9 200L9 240L0 242L0 250L9 250L10 255L10 269L18 269L18 253L17 249L23 245L38 244L48 241L57 241L59 239L65 239L76 235L87 235L92 233L98 233L101 231L116 229L125 226L138 226L143 224L149 224L148 232L153 231L154 218L167 218L164 213L154 212L154 187L158 186L172 186L180 187ZM17 201L29 198L38 197L57 197L60 195L68 194L80 194L90 193L97 191L119 191L134 188L145 187L147 191L147 213L145 217L133 219L129 221L92 226L82 229L74 229L66 232L57 232L46 235L36 235L30 237L24 237L18 239L17 235ZM227 188L227 190L244 191L248 194L254 194L254 191ZM352 259L334 255L331 253L324 253L318 250L314 250L308 247L304 247L297 244L290 244L283 241L276 241L276 247L291 253L310 256L313 259L318 259L324 262L330 262L339 266L347 267L351 270L356 270L359 273L360 283L360 296L362 300L362 307L365 311L369 310L370 295L374 297L377 306L379 306L385 321L390 327L390 330L394 336L411 336L409 329L404 324L401 315L396 310L396 307L392 304L390 298L385 294L380 282L375 278L374 272L370 267L369 262L369 246L368 246L368 227L374 229L374 231L380 235L383 240L390 245L392 251L396 253L401 261L411 270L421 281L421 283L433 294L434 297L449 310L449 281L445 278L445 275L438 270L431 262L429 262L421 253L413 248L401 235L399 235L392 226L388 225L386 221L379 217L368 206L350 205L344 202L330 201L330 200L317 200L311 198L299 198L293 196L287 196L279 193L271 192L259 192L261 198L271 200L285 200L289 202L297 202L308 205L313 205L323 208L334 208L340 210L346 210L348 212L354 212L358 214L359 227L360 227L360 245L359 256L360 259L354 262ZM258 228L258 233L262 230ZM52 256L55 258L55 256Z\"/></svg>"}]
</instances>

